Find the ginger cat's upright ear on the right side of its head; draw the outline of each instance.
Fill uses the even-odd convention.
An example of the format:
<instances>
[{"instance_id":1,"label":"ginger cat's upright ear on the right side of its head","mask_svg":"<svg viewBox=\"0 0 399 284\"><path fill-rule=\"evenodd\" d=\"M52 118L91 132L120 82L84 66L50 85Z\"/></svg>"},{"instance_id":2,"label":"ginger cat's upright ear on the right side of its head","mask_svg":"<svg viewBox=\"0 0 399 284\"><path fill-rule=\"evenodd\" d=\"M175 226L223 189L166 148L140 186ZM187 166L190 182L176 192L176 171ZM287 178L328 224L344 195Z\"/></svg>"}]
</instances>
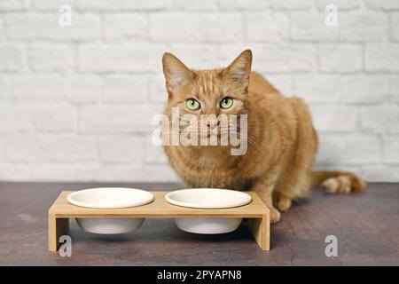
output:
<instances>
[{"instance_id":1,"label":"ginger cat's upright ear on the right side of its head","mask_svg":"<svg viewBox=\"0 0 399 284\"><path fill-rule=\"evenodd\" d=\"M235 82L244 84L247 87L249 83L249 74L251 73L252 66L252 51L246 50L239 54L237 59L231 62L227 67L228 77Z\"/></svg>"}]
</instances>

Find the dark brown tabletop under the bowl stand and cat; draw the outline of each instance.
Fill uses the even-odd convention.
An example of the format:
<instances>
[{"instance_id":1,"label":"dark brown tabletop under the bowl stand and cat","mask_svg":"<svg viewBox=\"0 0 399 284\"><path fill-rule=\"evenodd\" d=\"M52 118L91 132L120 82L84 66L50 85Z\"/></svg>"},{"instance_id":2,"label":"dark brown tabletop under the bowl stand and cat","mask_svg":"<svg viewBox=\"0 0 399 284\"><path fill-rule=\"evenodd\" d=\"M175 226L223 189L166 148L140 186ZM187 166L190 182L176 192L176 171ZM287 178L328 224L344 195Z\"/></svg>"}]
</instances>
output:
<instances>
[{"instance_id":1,"label":"dark brown tabletop under the bowl stand and cat","mask_svg":"<svg viewBox=\"0 0 399 284\"><path fill-rule=\"evenodd\" d=\"M184 233L171 219L146 219L118 237L84 233L71 222L72 256L47 248L47 210L63 190L107 184L0 183L1 265L398 265L399 185L369 184L365 193L329 195L315 189L271 226L262 251L242 225L223 235ZM108 184L110 185L110 184ZM112 184L173 190L173 184ZM338 256L325 256L325 237Z\"/></svg>"}]
</instances>

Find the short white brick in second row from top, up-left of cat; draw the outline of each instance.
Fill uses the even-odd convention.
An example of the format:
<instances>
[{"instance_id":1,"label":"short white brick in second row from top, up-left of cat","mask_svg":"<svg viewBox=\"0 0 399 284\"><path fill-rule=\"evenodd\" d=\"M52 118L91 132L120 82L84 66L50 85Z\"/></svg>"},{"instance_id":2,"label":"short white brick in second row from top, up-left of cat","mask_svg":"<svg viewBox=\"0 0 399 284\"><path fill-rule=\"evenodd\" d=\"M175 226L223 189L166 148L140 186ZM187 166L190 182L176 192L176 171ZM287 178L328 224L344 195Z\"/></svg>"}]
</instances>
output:
<instances>
[{"instance_id":1,"label":"short white brick in second row from top, up-left of cat","mask_svg":"<svg viewBox=\"0 0 399 284\"><path fill-rule=\"evenodd\" d=\"M104 17L104 36L108 41L147 36L147 17L138 13L113 13Z\"/></svg>"}]
</instances>

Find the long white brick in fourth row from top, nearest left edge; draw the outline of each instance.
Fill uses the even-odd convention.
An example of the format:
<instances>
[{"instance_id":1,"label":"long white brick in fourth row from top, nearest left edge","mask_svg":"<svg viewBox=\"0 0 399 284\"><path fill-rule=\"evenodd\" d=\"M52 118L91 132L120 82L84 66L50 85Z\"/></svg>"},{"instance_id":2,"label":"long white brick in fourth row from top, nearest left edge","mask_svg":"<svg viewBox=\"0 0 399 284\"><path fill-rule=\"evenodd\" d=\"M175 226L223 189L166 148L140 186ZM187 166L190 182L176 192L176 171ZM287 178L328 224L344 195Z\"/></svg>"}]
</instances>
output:
<instances>
[{"instance_id":1,"label":"long white brick in fourth row from top, nearest left edge","mask_svg":"<svg viewBox=\"0 0 399 284\"><path fill-rule=\"evenodd\" d=\"M95 75L31 75L12 80L13 95L31 103L89 103L101 98L102 80Z\"/></svg>"}]
</instances>

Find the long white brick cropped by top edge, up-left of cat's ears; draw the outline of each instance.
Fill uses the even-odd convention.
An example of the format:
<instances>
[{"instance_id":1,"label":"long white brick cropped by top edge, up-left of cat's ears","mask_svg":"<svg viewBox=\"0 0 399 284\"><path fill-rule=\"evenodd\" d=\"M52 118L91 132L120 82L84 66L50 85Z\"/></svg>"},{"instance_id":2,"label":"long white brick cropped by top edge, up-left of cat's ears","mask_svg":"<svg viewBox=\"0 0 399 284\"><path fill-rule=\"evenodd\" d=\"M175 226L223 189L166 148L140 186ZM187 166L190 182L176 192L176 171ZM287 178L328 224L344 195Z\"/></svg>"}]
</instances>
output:
<instances>
[{"instance_id":1,"label":"long white brick cropped by top edge, up-left of cat's ears","mask_svg":"<svg viewBox=\"0 0 399 284\"><path fill-rule=\"evenodd\" d=\"M78 10L95 12L159 11L168 7L165 0L79 0Z\"/></svg>"}]
</instances>

